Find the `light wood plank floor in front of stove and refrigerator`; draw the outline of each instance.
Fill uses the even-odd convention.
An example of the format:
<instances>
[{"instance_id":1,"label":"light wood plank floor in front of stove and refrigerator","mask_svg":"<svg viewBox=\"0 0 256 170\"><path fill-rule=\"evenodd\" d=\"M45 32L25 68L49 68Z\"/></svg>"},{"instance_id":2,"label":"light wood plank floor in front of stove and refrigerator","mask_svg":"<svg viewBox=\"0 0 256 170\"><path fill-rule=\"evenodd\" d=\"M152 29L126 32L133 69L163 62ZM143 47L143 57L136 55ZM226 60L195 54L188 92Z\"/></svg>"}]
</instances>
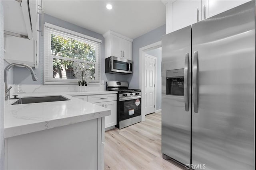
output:
<instances>
[{"instance_id":1,"label":"light wood plank floor in front of stove and refrigerator","mask_svg":"<svg viewBox=\"0 0 256 170\"><path fill-rule=\"evenodd\" d=\"M161 113L105 133L105 170L184 170L161 153Z\"/></svg>"}]
</instances>

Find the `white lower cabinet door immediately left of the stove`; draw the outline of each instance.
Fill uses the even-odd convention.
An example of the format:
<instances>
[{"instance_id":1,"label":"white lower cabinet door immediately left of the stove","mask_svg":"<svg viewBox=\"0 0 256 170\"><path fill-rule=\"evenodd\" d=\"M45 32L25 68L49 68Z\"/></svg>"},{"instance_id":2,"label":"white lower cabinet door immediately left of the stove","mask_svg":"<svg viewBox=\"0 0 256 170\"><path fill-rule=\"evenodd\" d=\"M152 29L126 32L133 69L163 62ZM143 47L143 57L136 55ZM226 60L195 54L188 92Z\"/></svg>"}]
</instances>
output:
<instances>
[{"instance_id":1,"label":"white lower cabinet door immediately left of the stove","mask_svg":"<svg viewBox=\"0 0 256 170\"><path fill-rule=\"evenodd\" d=\"M111 110L111 115L105 117L105 128L116 125L116 101L104 102L104 107Z\"/></svg>"}]
</instances>

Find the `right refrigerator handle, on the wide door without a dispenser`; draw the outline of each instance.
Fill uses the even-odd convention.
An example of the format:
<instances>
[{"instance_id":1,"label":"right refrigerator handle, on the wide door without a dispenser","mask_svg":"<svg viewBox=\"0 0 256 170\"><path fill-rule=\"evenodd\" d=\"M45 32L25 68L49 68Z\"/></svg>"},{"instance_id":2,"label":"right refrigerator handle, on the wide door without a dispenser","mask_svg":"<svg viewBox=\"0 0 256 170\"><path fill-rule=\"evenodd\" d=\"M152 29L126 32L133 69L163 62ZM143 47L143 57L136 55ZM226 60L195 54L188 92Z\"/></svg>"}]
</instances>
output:
<instances>
[{"instance_id":1,"label":"right refrigerator handle, on the wide door without a dispenser","mask_svg":"<svg viewBox=\"0 0 256 170\"><path fill-rule=\"evenodd\" d=\"M197 92L197 66L198 64L198 51L194 51L194 61L193 61L193 72L192 72L192 89L193 89L193 104L194 112L198 113L198 92Z\"/></svg>"}]
</instances>

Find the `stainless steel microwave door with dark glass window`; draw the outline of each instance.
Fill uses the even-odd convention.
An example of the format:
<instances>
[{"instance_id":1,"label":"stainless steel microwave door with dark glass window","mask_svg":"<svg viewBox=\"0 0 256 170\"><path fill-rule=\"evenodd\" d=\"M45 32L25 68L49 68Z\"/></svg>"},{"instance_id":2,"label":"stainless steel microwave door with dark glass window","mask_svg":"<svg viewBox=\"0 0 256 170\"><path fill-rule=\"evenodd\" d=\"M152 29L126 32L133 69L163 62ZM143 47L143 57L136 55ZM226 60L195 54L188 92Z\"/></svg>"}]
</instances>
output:
<instances>
[{"instance_id":1,"label":"stainless steel microwave door with dark glass window","mask_svg":"<svg viewBox=\"0 0 256 170\"><path fill-rule=\"evenodd\" d=\"M112 71L132 73L132 61L112 56Z\"/></svg>"}]
</instances>

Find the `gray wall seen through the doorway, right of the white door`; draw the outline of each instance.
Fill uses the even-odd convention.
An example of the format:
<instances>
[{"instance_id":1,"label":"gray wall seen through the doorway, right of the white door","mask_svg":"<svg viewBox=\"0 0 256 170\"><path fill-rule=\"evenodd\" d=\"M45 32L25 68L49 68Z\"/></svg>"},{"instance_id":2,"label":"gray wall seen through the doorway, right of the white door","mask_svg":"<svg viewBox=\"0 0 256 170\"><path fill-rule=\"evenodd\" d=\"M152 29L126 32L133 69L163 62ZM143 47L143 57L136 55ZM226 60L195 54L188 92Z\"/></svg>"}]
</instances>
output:
<instances>
[{"instance_id":1,"label":"gray wall seen through the doorway, right of the white door","mask_svg":"<svg viewBox=\"0 0 256 170\"><path fill-rule=\"evenodd\" d=\"M156 57L156 110L161 109L162 104L162 78L161 78L161 61L162 47L146 51L146 54Z\"/></svg>"}]
</instances>

